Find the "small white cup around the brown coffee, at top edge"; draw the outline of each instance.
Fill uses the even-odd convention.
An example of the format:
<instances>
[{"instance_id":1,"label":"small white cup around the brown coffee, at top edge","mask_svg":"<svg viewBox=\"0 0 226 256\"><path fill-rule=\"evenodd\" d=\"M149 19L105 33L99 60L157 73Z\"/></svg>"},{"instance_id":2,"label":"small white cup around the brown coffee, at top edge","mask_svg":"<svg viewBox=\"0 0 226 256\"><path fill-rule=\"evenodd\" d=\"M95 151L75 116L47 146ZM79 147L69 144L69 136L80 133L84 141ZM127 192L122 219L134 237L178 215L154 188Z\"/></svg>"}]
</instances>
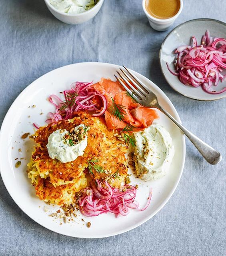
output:
<instances>
[{"instance_id":1,"label":"small white cup around the brown coffee, at top edge","mask_svg":"<svg viewBox=\"0 0 226 256\"><path fill-rule=\"evenodd\" d=\"M143 7L143 10L144 10L144 13L146 14L147 18L148 18L148 21L150 23L150 26L152 28L154 28L155 30L158 30L158 31L165 31L165 30L168 30L168 28L170 26L172 26L172 24L174 24L174 21L176 20L176 18L180 15L181 11L182 11L182 8L183 8L183 0L180 0L180 9L178 10L178 12L176 13L176 15L174 15L172 18L169 18L169 19L157 19L157 18L154 18L153 16L151 16L148 11L146 10L146 7L145 7L145 3L147 2L148 0L143 0L142 2L142 7Z\"/></svg>"}]
</instances>

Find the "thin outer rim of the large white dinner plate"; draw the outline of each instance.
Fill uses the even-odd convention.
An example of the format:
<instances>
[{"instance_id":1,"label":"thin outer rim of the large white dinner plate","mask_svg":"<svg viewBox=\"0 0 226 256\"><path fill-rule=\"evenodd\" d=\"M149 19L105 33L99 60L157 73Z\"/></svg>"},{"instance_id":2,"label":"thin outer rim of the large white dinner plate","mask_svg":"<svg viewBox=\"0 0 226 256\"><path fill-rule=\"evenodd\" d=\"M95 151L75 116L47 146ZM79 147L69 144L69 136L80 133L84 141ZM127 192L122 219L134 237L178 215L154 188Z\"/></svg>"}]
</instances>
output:
<instances>
[{"instance_id":1,"label":"thin outer rim of the large white dinner plate","mask_svg":"<svg viewBox=\"0 0 226 256\"><path fill-rule=\"evenodd\" d=\"M4 126L5 126L5 122L6 122L6 118L8 115L10 115L10 111L12 109L12 106L14 104L16 104L16 102L20 99L20 97L23 96L23 94L26 92L26 90L29 89L29 87L31 87L34 83L36 83L39 79L43 78L44 76L47 76L48 74L50 74L51 72L55 72L56 70L60 70L60 69L63 69L63 68L67 68L68 66L76 66L76 65L105 65L105 66L111 66L112 68L119 68L121 66L119 65L115 65L115 64L110 64L110 63L104 63L104 62L80 62L80 63L74 63L74 64L70 64L70 65L66 65L66 66L62 66L60 68L56 68L42 76L40 76L39 78L37 78L36 80L34 80L31 84L29 84L26 88L24 88L24 90L16 97L16 99L14 100L14 102L12 103L12 105L10 106L10 108L8 109L7 113L6 113L6 116L4 117L4 120L2 122L2 126L1 126L1 130L0 130L0 144L1 144L1 141L2 141L2 136L3 136L3 129L4 129ZM149 80L148 78L146 78L145 76L139 74L138 72L135 72L133 70L131 70L132 72L134 72L134 74L136 74L138 77L142 77L144 80L148 80L148 82L150 84L152 84L153 88L155 88L156 90L158 90L161 94L162 97L166 98L166 100L168 100L167 104L169 104L170 108L172 109L172 111L174 112L174 117L176 118L176 120L178 122L181 123L181 120L180 120L180 117L174 107L174 105L172 104L172 102L170 101L170 99L166 96L166 94L156 85L154 84L151 80ZM164 206L165 204L168 202L168 200L171 198L172 194L174 193L174 191L176 190L177 186L178 186L178 183L180 181L180 178L182 176L182 173L183 173L183 170L184 170L184 163L185 163L185 156L186 156L186 145L185 145L185 136L184 134L181 134L182 136L182 147L183 147L183 155L182 155L182 166L181 166L181 169L180 169L180 175L178 176L177 180L176 180L176 183L173 187L173 189L171 190L171 192L168 194L168 196L164 199L164 202L162 202L162 204L152 213L150 214L148 217L144 218L143 220L141 220L140 222L137 222L136 224L134 225L131 225L130 227L128 228L125 228L123 231L116 231L116 232L109 232L109 234L107 235L98 235L98 236L79 236L79 235L75 235L73 237L77 237L77 238L105 238L105 237L109 237L109 236L115 236L115 235L118 235L118 234L122 234L122 233L125 233L127 231L130 231L142 224L144 224L144 222L146 222L147 220L149 220L150 218L152 218L155 214L157 214ZM36 223L40 224L41 226L43 226L44 228L47 228L48 230L51 230L53 232L56 232L58 234L62 234L62 235L65 235L65 236L69 236L68 234L66 234L66 232L60 232L59 230L54 230L54 228L49 228L49 227L46 227L44 225L42 225L41 221L40 220L36 220L34 217L30 216L30 214L26 211L26 209L24 209L23 205L18 202L16 199L14 199L14 196L12 196L12 193L10 192L10 190L8 189L8 185L7 185L7 182L6 182L6 176L4 175L4 172L2 171L2 161L1 161L1 155L2 153L0 152L0 174L1 174L1 177L2 177L2 181L6 187L6 190L8 191L8 193L10 194L10 196L12 197L12 199L14 200L14 202L18 205L18 207L27 215L29 216L32 220L34 220Z\"/></svg>"}]
</instances>

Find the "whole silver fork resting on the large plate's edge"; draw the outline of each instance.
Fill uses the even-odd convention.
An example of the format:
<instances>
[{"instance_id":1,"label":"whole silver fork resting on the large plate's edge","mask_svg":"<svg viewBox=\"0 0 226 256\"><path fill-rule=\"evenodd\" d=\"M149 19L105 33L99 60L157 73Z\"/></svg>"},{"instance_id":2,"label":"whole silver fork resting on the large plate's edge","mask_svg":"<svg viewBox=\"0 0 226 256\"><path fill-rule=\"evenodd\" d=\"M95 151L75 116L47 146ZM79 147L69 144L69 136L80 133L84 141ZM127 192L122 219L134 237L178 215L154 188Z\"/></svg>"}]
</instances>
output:
<instances>
[{"instance_id":1,"label":"whole silver fork resting on the large plate's edge","mask_svg":"<svg viewBox=\"0 0 226 256\"><path fill-rule=\"evenodd\" d=\"M168 118L170 118L174 124L176 124L176 126L178 126L178 128L189 138L189 140L194 144L208 163L217 164L221 161L222 157L218 151L206 144L204 141L200 140L200 138L192 134L189 130L182 126L182 124L175 120L166 110L164 110L164 108L158 104L156 95L148 88L148 86L146 86L136 75L128 70L128 68L125 66L123 67L127 73L122 70L122 68L120 68L122 74L118 71L117 73L130 89L122 82L120 78L118 78L118 76L115 75L115 77L139 104L148 108L157 108L166 114L166 116L168 116ZM134 86L136 86L136 88Z\"/></svg>"}]
</instances>

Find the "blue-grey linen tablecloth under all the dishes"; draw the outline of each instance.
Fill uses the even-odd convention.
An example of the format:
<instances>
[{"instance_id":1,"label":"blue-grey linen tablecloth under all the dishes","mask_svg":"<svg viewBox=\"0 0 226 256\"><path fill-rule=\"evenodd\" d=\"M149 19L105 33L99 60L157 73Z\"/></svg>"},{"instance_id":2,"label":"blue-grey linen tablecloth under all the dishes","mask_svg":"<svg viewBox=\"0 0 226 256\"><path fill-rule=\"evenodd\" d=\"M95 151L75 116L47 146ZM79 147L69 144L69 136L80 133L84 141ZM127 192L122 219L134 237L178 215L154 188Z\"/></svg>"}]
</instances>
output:
<instances>
[{"instance_id":1,"label":"blue-grey linen tablecloth under all the dishes","mask_svg":"<svg viewBox=\"0 0 226 256\"><path fill-rule=\"evenodd\" d=\"M141 0L106 0L96 17L64 24L44 0L0 1L0 122L21 90L46 72L76 62L124 64L155 82L183 124L218 149L209 165L186 141L184 173L166 206L138 228L104 239L79 239L43 228L14 203L0 178L0 256L223 256L226 252L226 99L199 102L174 92L158 52L170 31L152 30ZM226 21L225 0L184 0L174 26L194 18Z\"/></svg>"}]
</instances>

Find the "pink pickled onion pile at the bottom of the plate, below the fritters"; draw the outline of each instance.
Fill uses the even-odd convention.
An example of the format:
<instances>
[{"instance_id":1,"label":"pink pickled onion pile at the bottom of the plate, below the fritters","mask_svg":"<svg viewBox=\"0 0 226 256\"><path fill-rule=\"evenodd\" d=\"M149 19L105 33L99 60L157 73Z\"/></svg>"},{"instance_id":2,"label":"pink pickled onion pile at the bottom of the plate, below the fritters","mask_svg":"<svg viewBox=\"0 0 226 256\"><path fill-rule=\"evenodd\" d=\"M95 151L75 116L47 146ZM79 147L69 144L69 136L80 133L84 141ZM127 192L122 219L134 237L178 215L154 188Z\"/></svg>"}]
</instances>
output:
<instances>
[{"instance_id":1,"label":"pink pickled onion pile at the bottom of the plate, below the fritters","mask_svg":"<svg viewBox=\"0 0 226 256\"><path fill-rule=\"evenodd\" d=\"M150 190L148 200L144 208L139 208L139 203L135 200L136 188L132 185L124 185L122 188L114 188L104 181L90 182L90 187L82 191L82 196L78 200L80 211L87 217L98 216L102 213L111 212L116 217L126 216L129 209L144 211L148 208L152 197Z\"/></svg>"}]
</instances>

